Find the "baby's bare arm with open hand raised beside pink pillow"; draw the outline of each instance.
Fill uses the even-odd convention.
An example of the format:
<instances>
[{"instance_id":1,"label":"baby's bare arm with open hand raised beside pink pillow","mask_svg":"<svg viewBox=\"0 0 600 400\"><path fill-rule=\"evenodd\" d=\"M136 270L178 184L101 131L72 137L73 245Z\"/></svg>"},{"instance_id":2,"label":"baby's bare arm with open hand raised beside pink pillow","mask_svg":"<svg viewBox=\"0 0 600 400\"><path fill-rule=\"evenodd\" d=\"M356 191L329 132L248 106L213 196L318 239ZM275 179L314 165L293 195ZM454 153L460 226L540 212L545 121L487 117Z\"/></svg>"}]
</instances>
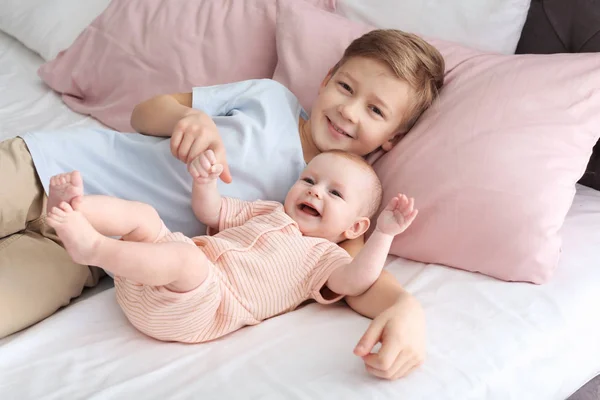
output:
<instances>
[{"instance_id":1,"label":"baby's bare arm with open hand raised beside pink pillow","mask_svg":"<svg viewBox=\"0 0 600 400\"><path fill-rule=\"evenodd\" d=\"M335 293L358 296L379 277L394 237L404 232L417 216L414 200L398 194L377 219L377 227L351 263L335 269L327 287Z\"/></svg>"}]
</instances>

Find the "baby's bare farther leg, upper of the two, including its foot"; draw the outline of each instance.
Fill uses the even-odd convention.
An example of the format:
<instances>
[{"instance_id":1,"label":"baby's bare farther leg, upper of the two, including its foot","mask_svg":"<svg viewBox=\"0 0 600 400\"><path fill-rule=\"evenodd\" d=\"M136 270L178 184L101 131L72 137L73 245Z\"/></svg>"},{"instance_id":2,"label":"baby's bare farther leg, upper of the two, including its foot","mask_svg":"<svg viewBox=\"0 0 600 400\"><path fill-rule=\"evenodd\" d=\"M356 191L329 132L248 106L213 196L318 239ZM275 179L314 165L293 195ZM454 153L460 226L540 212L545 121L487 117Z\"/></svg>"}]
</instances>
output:
<instances>
[{"instance_id":1,"label":"baby's bare farther leg, upper of the two, including its foot","mask_svg":"<svg viewBox=\"0 0 600 400\"><path fill-rule=\"evenodd\" d=\"M78 171L50 178L47 213L51 214L63 201L81 212L95 230L106 236L154 242L162 229L158 213L148 204L110 196L83 196L83 180Z\"/></svg>"}]
</instances>

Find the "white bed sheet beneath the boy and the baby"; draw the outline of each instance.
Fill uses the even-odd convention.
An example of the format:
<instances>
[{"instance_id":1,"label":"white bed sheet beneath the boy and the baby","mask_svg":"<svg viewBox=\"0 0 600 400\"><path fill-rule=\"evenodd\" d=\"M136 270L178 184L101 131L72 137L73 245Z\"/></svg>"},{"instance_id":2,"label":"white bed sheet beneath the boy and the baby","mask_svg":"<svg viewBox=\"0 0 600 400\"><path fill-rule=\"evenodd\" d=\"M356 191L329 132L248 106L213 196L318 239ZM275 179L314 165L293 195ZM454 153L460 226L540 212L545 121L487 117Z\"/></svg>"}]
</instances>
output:
<instances>
[{"instance_id":1,"label":"white bed sheet beneath the boy and the baby","mask_svg":"<svg viewBox=\"0 0 600 400\"><path fill-rule=\"evenodd\" d=\"M0 32L0 139L100 125L44 86L42 63ZM369 321L341 304L310 304L200 346L166 344L127 322L104 279L0 340L0 398L566 399L600 373L600 191L577 185L562 235L556 275L539 286L390 257L428 323L427 361L406 379L364 372L352 348Z\"/></svg>"}]
</instances>

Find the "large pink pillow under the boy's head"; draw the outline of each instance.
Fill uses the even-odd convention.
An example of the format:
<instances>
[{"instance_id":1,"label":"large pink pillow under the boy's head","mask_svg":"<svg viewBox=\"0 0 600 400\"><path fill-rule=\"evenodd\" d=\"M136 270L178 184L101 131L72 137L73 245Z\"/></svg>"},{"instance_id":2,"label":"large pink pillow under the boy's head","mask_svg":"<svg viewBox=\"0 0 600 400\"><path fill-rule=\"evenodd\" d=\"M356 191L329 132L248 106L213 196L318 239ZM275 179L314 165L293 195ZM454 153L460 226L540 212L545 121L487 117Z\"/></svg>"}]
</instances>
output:
<instances>
[{"instance_id":1,"label":"large pink pillow under the boy's head","mask_svg":"<svg viewBox=\"0 0 600 400\"><path fill-rule=\"evenodd\" d=\"M368 29L282 3L276 79L310 109L329 68ZM441 97L375 163L384 204L402 192L420 210L391 253L546 282L575 183L600 136L600 54L505 56L432 43L447 61Z\"/></svg>"}]
</instances>

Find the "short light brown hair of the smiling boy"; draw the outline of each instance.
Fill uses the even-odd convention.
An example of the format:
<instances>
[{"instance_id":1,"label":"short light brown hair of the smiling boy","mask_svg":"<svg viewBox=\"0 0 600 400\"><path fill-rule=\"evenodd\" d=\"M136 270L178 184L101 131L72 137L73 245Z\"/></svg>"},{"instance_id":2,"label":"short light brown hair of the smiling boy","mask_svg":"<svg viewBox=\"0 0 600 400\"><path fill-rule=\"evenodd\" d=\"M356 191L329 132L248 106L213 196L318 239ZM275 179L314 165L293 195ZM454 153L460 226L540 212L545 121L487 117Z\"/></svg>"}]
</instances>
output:
<instances>
[{"instance_id":1,"label":"short light brown hair of the smiling boy","mask_svg":"<svg viewBox=\"0 0 600 400\"><path fill-rule=\"evenodd\" d=\"M400 126L402 132L412 128L437 98L444 83L444 58L435 47L412 33L376 29L362 35L346 48L331 75L353 57L384 62L413 89L415 95Z\"/></svg>"}]
</instances>

